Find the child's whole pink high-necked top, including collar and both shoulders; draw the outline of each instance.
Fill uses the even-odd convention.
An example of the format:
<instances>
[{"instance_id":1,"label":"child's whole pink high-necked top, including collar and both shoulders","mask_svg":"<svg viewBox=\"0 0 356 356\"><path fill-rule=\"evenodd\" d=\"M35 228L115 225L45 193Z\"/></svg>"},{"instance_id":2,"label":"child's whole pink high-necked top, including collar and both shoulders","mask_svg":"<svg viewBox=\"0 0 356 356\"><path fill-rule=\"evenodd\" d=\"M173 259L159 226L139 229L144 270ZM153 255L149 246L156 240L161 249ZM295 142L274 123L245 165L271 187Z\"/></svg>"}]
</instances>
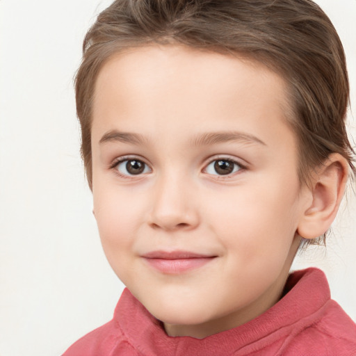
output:
<instances>
[{"instance_id":1,"label":"child's whole pink high-necked top, including collar and both shoulders","mask_svg":"<svg viewBox=\"0 0 356 356\"><path fill-rule=\"evenodd\" d=\"M205 339L169 337L125 289L113 320L76 341L63 356L355 356L356 325L330 299L321 270L292 273L285 295L252 321Z\"/></svg>"}]
</instances>

